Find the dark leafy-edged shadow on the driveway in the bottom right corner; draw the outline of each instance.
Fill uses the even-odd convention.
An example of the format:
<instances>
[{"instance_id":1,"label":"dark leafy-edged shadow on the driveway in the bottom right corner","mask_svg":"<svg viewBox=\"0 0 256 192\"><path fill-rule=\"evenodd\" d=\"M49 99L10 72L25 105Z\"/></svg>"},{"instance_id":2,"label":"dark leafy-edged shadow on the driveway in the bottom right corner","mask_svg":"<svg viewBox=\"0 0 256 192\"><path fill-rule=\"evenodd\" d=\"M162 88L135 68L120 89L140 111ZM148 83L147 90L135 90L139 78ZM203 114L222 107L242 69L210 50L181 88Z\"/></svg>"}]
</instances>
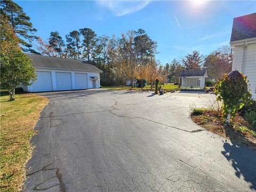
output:
<instances>
[{"instance_id":1,"label":"dark leafy-edged shadow on the driveway in the bottom right corner","mask_svg":"<svg viewBox=\"0 0 256 192\"><path fill-rule=\"evenodd\" d=\"M236 177L244 177L244 180L251 184L252 190L256 189L256 150L247 148L236 142L232 142L232 145L222 141L224 150L221 154L232 163L236 171Z\"/></svg>"}]
</instances>

